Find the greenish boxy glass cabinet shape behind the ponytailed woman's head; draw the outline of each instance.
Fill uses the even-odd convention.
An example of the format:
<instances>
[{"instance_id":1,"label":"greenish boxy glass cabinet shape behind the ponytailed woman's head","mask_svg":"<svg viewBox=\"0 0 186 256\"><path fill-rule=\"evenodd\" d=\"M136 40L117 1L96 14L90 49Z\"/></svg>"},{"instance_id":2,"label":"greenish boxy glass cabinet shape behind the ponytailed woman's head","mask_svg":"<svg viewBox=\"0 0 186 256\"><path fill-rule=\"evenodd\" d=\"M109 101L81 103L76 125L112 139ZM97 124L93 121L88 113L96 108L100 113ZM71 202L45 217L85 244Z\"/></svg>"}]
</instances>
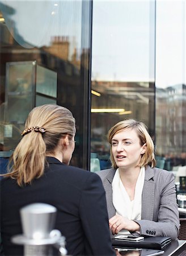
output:
<instances>
[{"instance_id":1,"label":"greenish boxy glass cabinet shape behind the ponytailed woman's head","mask_svg":"<svg viewBox=\"0 0 186 256\"><path fill-rule=\"evenodd\" d=\"M32 108L46 103L56 104L57 74L40 67L36 61L7 62L5 85L1 143L5 151L10 151L20 141L20 133Z\"/></svg>"}]
</instances>

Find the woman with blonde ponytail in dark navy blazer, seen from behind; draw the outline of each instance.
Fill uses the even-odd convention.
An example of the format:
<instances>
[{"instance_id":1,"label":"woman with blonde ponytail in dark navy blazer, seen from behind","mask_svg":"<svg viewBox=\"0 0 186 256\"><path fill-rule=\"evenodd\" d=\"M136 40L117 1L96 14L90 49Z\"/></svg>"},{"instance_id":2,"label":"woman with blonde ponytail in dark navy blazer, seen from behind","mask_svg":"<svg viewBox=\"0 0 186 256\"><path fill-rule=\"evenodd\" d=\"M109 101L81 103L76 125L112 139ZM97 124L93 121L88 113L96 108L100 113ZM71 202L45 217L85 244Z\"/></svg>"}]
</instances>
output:
<instances>
[{"instance_id":1,"label":"woman with blonde ponytail in dark navy blazer, seen from behind","mask_svg":"<svg viewBox=\"0 0 186 256\"><path fill-rule=\"evenodd\" d=\"M70 255L115 255L100 177L69 163L75 146L75 119L53 104L29 113L22 140L1 180L1 238L5 255L23 255L11 243L21 234L20 208L46 203L57 208L56 229ZM95 239L96 237L96 239Z\"/></svg>"}]
</instances>

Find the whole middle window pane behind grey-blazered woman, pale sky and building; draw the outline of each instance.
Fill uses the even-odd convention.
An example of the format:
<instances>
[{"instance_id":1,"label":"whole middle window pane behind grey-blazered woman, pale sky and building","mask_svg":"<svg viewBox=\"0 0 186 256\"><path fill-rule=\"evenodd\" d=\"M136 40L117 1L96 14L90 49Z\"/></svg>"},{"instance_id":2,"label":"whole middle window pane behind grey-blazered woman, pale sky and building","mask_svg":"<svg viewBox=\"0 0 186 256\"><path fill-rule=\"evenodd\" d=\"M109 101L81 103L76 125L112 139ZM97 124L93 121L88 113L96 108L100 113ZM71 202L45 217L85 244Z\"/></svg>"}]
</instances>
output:
<instances>
[{"instance_id":1,"label":"whole middle window pane behind grey-blazered woman, pale sky and building","mask_svg":"<svg viewBox=\"0 0 186 256\"><path fill-rule=\"evenodd\" d=\"M95 1L93 11L91 158L102 170L115 123L138 119L154 136L155 2Z\"/></svg>"}]
</instances>

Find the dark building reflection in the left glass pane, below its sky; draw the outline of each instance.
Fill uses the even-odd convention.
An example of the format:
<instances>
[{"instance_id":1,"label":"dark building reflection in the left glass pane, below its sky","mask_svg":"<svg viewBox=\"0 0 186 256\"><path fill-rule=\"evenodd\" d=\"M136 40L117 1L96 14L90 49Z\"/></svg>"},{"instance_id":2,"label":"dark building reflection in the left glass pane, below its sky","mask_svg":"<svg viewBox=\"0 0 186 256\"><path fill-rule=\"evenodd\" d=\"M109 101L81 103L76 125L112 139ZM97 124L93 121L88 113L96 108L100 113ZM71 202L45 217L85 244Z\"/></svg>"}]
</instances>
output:
<instances>
[{"instance_id":1,"label":"dark building reflection in the left glass pane, below its sky","mask_svg":"<svg viewBox=\"0 0 186 256\"><path fill-rule=\"evenodd\" d=\"M80 2L73 4L79 5ZM19 7L19 3L17 5ZM69 7L71 5L69 3ZM88 11L90 3L82 3L80 6L83 8L83 5L86 5ZM87 168L88 158L83 158L83 155L87 154L88 113L84 109L87 108L88 100L90 49L77 48L75 38L66 35L52 36L50 46L32 46L19 35L16 23L11 19L16 10L2 3L0 7L3 10L0 22L0 157L11 155L21 139L20 133L24 129L26 117L34 106L57 103L69 108L77 122L77 145L71 164ZM3 14L6 14L6 19L3 19ZM79 19L82 19L81 13ZM79 25L82 26L81 22ZM82 30L82 37L83 33ZM86 40L87 37L84 42Z\"/></svg>"}]
</instances>

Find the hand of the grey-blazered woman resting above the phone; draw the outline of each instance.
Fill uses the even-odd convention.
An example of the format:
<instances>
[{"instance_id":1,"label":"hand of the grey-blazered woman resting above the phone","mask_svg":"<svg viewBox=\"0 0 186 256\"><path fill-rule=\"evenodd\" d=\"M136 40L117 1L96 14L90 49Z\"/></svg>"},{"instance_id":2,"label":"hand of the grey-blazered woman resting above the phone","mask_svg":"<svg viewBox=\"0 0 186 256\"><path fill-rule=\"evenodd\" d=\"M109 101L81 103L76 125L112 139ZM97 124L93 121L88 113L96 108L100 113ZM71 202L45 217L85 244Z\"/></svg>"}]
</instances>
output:
<instances>
[{"instance_id":1,"label":"hand of the grey-blazered woman resting above the phone","mask_svg":"<svg viewBox=\"0 0 186 256\"><path fill-rule=\"evenodd\" d=\"M112 234L117 234L121 229L127 229L130 232L140 231L139 224L121 215L115 215L109 219L109 228Z\"/></svg>"}]
</instances>

